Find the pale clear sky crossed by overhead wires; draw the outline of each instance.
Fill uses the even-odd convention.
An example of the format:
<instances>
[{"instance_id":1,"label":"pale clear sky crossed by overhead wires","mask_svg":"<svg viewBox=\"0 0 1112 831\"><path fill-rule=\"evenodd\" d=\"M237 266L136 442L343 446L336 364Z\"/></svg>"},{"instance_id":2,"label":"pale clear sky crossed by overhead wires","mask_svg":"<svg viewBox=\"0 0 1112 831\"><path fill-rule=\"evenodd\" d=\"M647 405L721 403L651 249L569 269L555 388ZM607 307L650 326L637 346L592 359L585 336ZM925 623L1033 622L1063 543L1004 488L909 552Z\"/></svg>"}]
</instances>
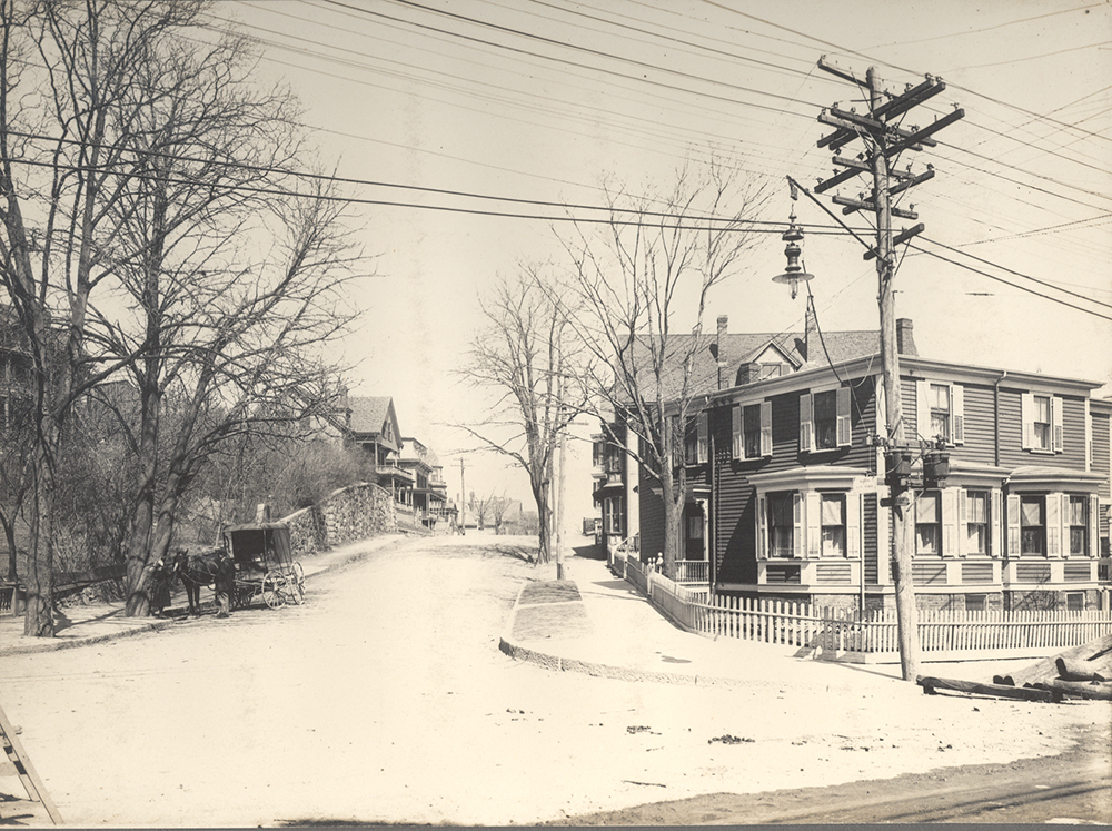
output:
<instances>
[{"instance_id":1,"label":"pale clear sky crossed by overhead wires","mask_svg":"<svg viewBox=\"0 0 1112 831\"><path fill-rule=\"evenodd\" d=\"M1090 379L1112 395L1109 2L219 0L210 17L256 39L260 83L300 99L318 154L307 165L350 180L370 256L342 350L351 392L393 396L403 434L437 452L451 495L463 461L467 491L528 506L524 473L453 427L489 407L460 370L484 293L523 263L558 259L560 206L602 205L604 178L646 192L685 158L715 154L770 189L765 233L712 294L705 325L727 315L731 332L802 329L804 294L771 279L794 209L822 327L878 327L861 243L790 196L788 176L813 189L835 169L816 145L832 131L823 108L865 111L855 86L818 68L823 56L856 78L875 67L896 93L943 80L905 128L965 113L900 162L935 171L898 202L926 226L895 278L920 355ZM861 189L816 198L841 217L830 196ZM844 221L870 233L860 215ZM596 513L589 456L569 446L574 525Z\"/></svg>"}]
</instances>

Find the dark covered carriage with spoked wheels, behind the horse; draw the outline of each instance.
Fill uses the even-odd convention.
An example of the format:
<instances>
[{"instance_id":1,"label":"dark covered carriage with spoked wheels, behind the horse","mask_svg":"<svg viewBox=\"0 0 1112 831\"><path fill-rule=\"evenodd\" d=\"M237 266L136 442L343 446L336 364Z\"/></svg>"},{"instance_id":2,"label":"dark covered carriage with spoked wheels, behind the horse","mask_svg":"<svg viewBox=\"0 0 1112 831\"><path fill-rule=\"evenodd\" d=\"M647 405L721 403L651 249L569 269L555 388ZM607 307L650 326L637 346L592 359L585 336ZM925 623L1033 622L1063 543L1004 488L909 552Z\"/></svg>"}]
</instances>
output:
<instances>
[{"instance_id":1,"label":"dark covered carriage with spoked wheels, behind the horse","mask_svg":"<svg viewBox=\"0 0 1112 831\"><path fill-rule=\"evenodd\" d=\"M224 530L220 542L236 567L231 602L236 609L257 597L271 609L305 601L305 572L294 560L289 526L251 523Z\"/></svg>"}]
</instances>

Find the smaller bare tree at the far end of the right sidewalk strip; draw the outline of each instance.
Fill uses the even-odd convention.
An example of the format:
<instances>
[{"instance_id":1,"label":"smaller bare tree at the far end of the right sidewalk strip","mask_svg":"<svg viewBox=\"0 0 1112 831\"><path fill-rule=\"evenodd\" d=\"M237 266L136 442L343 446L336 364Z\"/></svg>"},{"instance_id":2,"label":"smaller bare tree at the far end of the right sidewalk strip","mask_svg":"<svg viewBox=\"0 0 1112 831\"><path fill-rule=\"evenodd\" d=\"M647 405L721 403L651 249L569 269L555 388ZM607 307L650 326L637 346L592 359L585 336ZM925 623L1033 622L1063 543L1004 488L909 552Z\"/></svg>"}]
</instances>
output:
<instances>
[{"instance_id":1,"label":"smaller bare tree at the far end of the right sidewalk strip","mask_svg":"<svg viewBox=\"0 0 1112 831\"><path fill-rule=\"evenodd\" d=\"M487 326L470 348L464 377L494 390L490 416L463 426L481 446L512 458L529 477L539 516L538 562L552 560L553 461L560 434L586 406L582 348L572 337L574 307L555 298L539 266L523 266L483 300Z\"/></svg>"}]
</instances>

